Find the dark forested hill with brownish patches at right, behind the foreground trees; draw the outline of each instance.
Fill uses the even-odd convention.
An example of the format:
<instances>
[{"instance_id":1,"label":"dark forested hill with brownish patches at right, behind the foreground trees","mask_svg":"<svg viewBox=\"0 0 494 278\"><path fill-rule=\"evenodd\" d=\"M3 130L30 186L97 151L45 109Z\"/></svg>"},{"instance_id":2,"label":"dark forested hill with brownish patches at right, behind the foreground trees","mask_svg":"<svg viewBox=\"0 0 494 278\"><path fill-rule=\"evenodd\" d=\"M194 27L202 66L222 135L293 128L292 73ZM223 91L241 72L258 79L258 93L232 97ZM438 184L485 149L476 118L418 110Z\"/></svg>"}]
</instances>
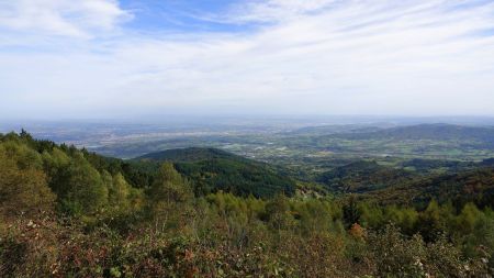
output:
<instances>
[{"instance_id":1,"label":"dark forested hill with brownish patches at right, behind the foreground trees","mask_svg":"<svg viewBox=\"0 0 494 278\"><path fill-rule=\"evenodd\" d=\"M431 200L467 202L479 207L494 203L494 165L482 163L417 160L404 163L418 170L405 170L360 160L323 173L317 181L336 193L358 193L363 198L393 204L425 205ZM450 170L435 171L438 166Z\"/></svg>"}]
</instances>

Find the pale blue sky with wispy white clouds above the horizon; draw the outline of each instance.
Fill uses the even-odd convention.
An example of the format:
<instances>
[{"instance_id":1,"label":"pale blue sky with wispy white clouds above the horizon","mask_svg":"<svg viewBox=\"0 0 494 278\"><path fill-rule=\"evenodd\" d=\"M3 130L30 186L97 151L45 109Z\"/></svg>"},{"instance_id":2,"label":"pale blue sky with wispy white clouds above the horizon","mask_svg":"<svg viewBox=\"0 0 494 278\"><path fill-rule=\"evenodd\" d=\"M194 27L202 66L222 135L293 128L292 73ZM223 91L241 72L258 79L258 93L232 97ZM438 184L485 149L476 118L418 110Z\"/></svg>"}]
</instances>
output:
<instances>
[{"instance_id":1,"label":"pale blue sky with wispy white clouds above the horizon","mask_svg":"<svg viewBox=\"0 0 494 278\"><path fill-rule=\"evenodd\" d=\"M490 0L0 0L0 118L494 115Z\"/></svg>"}]
</instances>

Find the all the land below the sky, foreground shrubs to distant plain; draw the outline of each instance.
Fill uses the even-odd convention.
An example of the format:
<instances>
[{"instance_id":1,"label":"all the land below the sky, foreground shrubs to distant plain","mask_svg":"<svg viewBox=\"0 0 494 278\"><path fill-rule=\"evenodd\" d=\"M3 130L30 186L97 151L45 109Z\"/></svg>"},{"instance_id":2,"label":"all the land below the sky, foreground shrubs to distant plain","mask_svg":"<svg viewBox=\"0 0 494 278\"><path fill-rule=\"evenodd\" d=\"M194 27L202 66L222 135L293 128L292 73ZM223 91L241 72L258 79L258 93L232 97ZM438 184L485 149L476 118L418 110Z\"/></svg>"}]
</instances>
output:
<instances>
[{"instance_id":1,"label":"all the land below the sky, foreground shrubs to distant plain","mask_svg":"<svg viewBox=\"0 0 494 278\"><path fill-rule=\"evenodd\" d=\"M492 273L491 125L111 126L0 134L0 274Z\"/></svg>"}]
</instances>

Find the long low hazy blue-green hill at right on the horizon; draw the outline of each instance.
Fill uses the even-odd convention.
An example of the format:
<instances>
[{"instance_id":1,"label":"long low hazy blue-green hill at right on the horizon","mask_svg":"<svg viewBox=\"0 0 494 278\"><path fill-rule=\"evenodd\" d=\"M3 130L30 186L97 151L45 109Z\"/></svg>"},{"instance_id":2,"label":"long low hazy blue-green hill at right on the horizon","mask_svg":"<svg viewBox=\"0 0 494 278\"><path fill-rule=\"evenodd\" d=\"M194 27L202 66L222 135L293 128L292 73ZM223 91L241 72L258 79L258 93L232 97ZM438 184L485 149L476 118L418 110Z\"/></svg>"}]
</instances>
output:
<instances>
[{"instance_id":1,"label":"long low hazy blue-green hill at right on the horizon","mask_svg":"<svg viewBox=\"0 0 494 278\"><path fill-rule=\"evenodd\" d=\"M453 124L419 124L391 127L373 132L353 132L332 136L349 140L445 140L473 141L494 147L493 126L463 126Z\"/></svg>"}]
</instances>

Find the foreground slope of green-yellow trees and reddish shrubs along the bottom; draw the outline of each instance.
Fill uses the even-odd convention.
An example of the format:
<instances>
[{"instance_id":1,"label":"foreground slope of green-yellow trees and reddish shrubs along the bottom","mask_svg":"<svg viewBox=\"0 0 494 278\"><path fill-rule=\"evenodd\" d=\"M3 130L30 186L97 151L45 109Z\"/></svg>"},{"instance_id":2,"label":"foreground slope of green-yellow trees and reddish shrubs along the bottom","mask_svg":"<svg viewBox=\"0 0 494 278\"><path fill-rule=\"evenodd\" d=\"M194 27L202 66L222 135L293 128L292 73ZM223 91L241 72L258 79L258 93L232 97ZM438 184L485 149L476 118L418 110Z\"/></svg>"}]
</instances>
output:
<instances>
[{"instance_id":1,"label":"foreground slope of green-yellow trees and reddish shrubs along the bottom","mask_svg":"<svg viewBox=\"0 0 494 278\"><path fill-rule=\"evenodd\" d=\"M145 164L1 135L0 277L493 274L494 212L483 199L260 199L203 192L171 163L154 173Z\"/></svg>"}]
</instances>

